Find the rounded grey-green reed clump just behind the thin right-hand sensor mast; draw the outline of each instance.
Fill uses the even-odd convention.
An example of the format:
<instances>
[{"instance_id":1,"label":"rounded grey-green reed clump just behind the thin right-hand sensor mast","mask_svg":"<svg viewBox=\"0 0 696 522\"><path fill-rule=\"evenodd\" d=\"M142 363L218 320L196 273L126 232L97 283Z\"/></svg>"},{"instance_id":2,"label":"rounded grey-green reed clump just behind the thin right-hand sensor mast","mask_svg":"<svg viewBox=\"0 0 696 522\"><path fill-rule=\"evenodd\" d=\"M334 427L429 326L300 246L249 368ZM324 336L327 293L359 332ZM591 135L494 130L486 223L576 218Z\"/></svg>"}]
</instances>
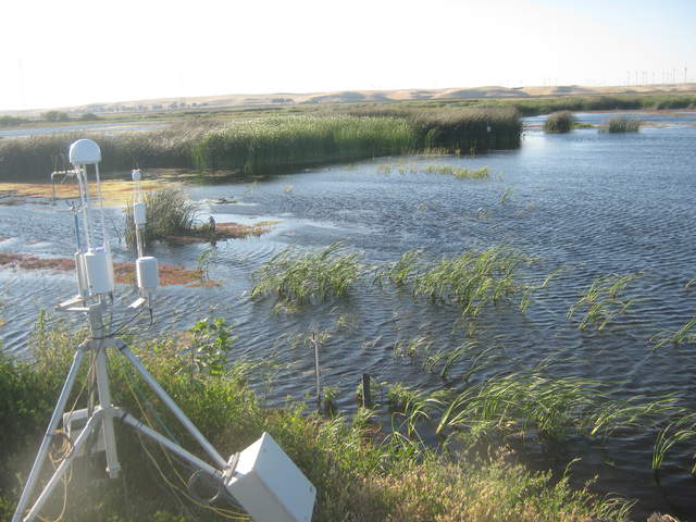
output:
<instances>
[{"instance_id":1,"label":"rounded grey-green reed clump just behind the thin right-hand sensor mast","mask_svg":"<svg viewBox=\"0 0 696 522\"><path fill-rule=\"evenodd\" d=\"M146 245L172 236L199 232L195 225L198 207L186 194L176 189L162 189L145 195L147 223L142 233ZM126 215L125 239L129 247L136 244L133 206L124 209Z\"/></svg>"}]
</instances>

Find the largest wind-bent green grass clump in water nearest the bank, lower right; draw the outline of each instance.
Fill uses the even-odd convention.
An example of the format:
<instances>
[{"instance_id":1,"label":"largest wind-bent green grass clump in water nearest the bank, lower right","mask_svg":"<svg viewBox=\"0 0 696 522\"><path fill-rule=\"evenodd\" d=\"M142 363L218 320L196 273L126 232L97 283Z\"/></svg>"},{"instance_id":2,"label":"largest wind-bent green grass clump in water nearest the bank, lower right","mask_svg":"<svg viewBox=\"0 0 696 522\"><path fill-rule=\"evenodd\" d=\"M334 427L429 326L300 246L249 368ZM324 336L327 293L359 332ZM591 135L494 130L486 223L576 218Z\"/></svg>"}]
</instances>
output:
<instances>
[{"instance_id":1,"label":"largest wind-bent green grass clump in water nearest the bank, lower right","mask_svg":"<svg viewBox=\"0 0 696 522\"><path fill-rule=\"evenodd\" d=\"M672 397L618 401L599 387L597 381L555 378L539 370L490 377L443 405L437 433L462 432L471 444L511 435L542 440L571 434L607 438L618 430L657 426L664 414L680 410Z\"/></svg>"}]
</instances>

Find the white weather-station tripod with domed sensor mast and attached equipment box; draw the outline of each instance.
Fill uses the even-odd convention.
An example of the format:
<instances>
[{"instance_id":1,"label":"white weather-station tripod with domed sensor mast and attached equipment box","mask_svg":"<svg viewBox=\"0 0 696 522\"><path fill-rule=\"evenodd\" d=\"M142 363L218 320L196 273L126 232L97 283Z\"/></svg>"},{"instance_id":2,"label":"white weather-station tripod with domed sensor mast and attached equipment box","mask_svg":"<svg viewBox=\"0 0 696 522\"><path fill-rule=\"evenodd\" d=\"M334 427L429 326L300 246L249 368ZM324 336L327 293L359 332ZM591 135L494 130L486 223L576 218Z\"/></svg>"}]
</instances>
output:
<instances>
[{"instance_id":1,"label":"white weather-station tripod with domed sensor mast and attached equipment box","mask_svg":"<svg viewBox=\"0 0 696 522\"><path fill-rule=\"evenodd\" d=\"M99 179L98 163L101 161L101 150L95 141L79 139L70 147L70 161L75 165L72 173L79 190L79 204L72 207L75 214L77 238L75 272L78 294L61 302L57 309L85 314L89 325L89 336L75 348L72 364L24 485L12 522L30 522L39 515L55 486L71 469L74 460L84 453L87 446L105 453L107 473L110 478L116 478L121 472L121 463L116 448L114 421L122 422L139 435L154 440L163 449L171 451L196 469L196 473L202 473L217 483L220 492L236 500L256 522L310 522L316 489L270 434L263 433L261 438L251 446L225 460L129 350L126 343L116 337L117 332L107 331L103 318L104 312L113 307L115 285ZM96 176L96 194L100 203L100 231L95 228L92 224L95 209L94 200L90 199L88 165L94 165L92 170ZM153 257L142 254L141 235L146 223L146 208L139 186L139 171L133 171L133 181L135 185L133 220L138 250L136 261L138 298L128 308L135 311L147 307L151 310L151 298L158 286L159 275L157 260ZM84 228L82 232L79 229L80 221ZM101 245L96 246L99 236L101 236ZM136 318L138 313L136 313ZM210 459L210 463L152 430L124 409L113 405L108 371L109 351L123 357L135 369L200 445ZM66 412L71 393L88 355L91 356L90 374L94 376L92 383L96 382L97 401L87 408ZM59 430L61 423L63 425L62 432ZM53 474L45 482L44 464L58 433L66 434L70 447ZM35 490L44 482L42 489L32 501Z\"/></svg>"}]
</instances>

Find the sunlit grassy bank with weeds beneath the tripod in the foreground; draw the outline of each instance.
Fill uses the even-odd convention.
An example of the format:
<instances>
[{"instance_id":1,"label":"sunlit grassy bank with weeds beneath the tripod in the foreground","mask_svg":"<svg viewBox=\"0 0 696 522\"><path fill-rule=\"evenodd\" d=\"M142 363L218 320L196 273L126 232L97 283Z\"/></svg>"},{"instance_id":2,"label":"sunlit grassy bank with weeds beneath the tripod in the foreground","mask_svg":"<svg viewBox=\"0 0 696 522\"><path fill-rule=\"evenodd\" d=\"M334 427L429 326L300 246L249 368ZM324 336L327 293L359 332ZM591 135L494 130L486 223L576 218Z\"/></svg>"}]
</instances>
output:
<instances>
[{"instance_id":1,"label":"sunlit grassy bank with weeds beneath the tripod in the foreground","mask_svg":"<svg viewBox=\"0 0 696 522\"><path fill-rule=\"evenodd\" d=\"M223 456L240 450L268 431L318 488L312 520L320 521L595 521L625 520L627 504L573 489L569 477L530 472L500 452L468 453L458 463L427 449L418 438L388 435L366 422L323 419L300 405L264 408L249 386L260 368L237 362L225 369L233 339L221 320L191 328L192 337L138 346L150 372ZM0 520L9 520L50 417L76 343L75 334L47 331L39 323L34 361L0 361ZM189 347L197 348L190 359ZM126 366L110 363L114 402L187 448L196 445ZM69 405L82 406L85 375ZM82 394L82 400L77 400ZM142 411L141 411L142 410ZM103 463L76 464L70 485L57 488L42 513L69 521L245 520L226 500L206 506L186 487L191 475L156 445L117 425L125 480L90 482ZM60 459L60 449L53 457ZM474 455L477 457L474 458ZM48 464L48 468L51 468ZM21 481L17 480L21 477ZM248 519L246 519L248 520Z\"/></svg>"}]
</instances>

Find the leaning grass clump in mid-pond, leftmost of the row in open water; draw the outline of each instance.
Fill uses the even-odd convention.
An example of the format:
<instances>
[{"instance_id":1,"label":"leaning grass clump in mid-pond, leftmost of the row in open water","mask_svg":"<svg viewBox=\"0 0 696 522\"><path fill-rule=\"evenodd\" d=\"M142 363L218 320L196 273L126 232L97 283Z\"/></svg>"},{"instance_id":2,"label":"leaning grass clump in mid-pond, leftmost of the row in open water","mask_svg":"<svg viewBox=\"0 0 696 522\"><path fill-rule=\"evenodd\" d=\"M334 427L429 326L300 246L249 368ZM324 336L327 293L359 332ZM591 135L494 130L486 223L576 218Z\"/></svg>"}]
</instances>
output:
<instances>
[{"instance_id":1,"label":"leaning grass clump in mid-pond, leftmost of the row in open water","mask_svg":"<svg viewBox=\"0 0 696 522\"><path fill-rule=\"evenodd\" d=\"M359 256L346 252L341 241L315 252L285 250L254 273L251 297L276 294L296 304L344 297L360 270Z\"/></svg>"}]
</instances>

